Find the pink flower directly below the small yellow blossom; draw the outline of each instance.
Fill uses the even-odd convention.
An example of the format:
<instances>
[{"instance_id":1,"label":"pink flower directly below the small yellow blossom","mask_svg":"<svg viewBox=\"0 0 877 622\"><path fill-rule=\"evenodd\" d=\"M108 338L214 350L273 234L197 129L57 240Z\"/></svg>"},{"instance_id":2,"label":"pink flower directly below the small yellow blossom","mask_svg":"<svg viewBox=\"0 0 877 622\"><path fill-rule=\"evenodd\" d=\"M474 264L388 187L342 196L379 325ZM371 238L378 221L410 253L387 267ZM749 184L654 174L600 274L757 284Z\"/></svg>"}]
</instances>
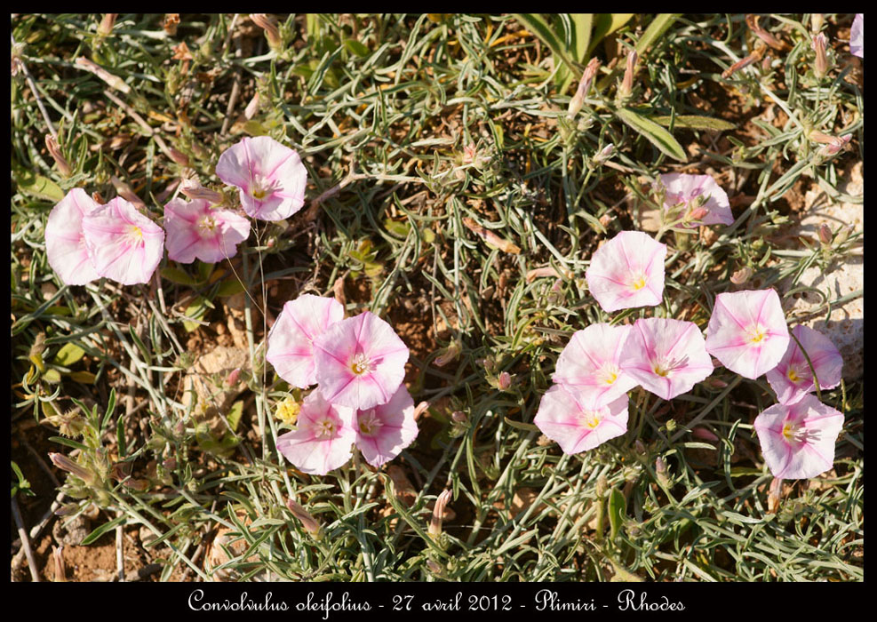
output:
<instances>
[{"instance_id":1,"label":"pink flower directly below the small yellow blossom","mask_svg":"<svg viewBox=\"0 0 877 622\"><path fill-rule=\"evenodd\" d=\"M295 430L277 439L277 450L299 471L324 475L353 456L353 409L327 402L319 389L307 395L296 423Z\"/></svg>"}]
</instances>

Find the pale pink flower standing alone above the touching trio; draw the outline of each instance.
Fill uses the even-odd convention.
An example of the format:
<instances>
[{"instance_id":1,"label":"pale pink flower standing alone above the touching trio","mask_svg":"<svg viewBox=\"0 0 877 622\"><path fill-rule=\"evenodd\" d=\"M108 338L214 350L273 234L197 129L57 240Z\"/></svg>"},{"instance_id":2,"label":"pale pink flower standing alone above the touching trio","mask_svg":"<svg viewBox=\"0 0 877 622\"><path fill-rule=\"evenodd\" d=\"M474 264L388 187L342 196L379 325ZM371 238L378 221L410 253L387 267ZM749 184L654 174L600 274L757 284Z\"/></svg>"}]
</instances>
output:
<instances>
[{"instance_id":1,"label":"pale pink flower standing alone above the touching trio","mask_svg":"<svg viewBox=\"0 0 877 622\"><path fill-rule=\"evenodd\" d=\"M594 252L587 287L604 311L659 305L666 254L666 245L650 235L622 231Z\"/></svg>"}]
</instances>

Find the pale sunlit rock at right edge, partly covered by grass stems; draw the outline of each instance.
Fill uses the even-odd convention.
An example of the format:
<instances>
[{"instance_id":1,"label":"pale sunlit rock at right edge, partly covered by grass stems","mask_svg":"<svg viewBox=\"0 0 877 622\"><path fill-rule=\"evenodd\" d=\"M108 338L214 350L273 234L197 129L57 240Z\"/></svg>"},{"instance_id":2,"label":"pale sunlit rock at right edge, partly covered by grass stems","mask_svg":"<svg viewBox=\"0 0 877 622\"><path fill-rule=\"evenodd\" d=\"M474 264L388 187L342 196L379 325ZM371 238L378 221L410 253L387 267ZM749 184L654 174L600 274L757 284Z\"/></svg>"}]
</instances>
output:
<instances>
[{"instance_id":1,"label":"pale sunlit rock at right edge, partly covered by grass stems","mask_svg":"<svg viewBox=\"0 0 877 622\"><path fill-rule=\"evenodd\" d=\"M847 180L839 184L838 189L850 196L863 194L861 162L849 169ZM793 227L792 233L809 238L818 246L818 231L822 224L827 224L832 230L842 224L851 227L852 232L861 233L863 216L864 207L861 203L833 203L825 192L814 186L805 195L803 218L797 227ZM795 286L815 287L823 291L829 301L862 291L865 288L863 259L863 238L859 237L849 251L833 259L825 270L818 266L804 270ZM784 291L793 287L790 279L782 286ZM865 300L860 295L833 307L827 319L826 311L823 299L815 292L802 293L786 301L786 313L793 323L797 321L823 333L840 350L843 378L860 379L864 363Z\"/></svg>"}]
</instances>

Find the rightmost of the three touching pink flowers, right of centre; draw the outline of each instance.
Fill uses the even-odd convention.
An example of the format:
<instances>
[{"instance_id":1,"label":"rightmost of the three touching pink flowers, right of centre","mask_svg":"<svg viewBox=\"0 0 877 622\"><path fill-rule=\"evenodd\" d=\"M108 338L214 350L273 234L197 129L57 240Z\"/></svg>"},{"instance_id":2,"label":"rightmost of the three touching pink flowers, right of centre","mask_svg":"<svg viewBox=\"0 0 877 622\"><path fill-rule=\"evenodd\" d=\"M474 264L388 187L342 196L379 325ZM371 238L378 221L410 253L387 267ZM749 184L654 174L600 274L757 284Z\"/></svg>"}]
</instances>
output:
<instances>
[{"instance_id":1,"label":"rightmost of the three touching pink flowers, right of centre","mask_svg":"<svg viewBox=\"0 0 877 622\"><path fill-rule=\"evenodd\" d=\"M621 367L645 390L672 400L712 374L713 360L696 323L650 317L634 323Z\"/></svg>"}]
</instances>

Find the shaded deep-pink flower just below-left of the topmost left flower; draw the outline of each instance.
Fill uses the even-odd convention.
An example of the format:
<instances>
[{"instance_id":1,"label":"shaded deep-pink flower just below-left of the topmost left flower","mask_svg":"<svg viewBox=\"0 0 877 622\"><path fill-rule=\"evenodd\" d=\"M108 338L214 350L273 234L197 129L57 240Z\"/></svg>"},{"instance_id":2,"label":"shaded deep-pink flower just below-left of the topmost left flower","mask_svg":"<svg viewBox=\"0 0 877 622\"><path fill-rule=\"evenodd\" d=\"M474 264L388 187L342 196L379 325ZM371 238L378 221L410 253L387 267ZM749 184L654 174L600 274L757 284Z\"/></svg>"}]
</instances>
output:
<instances>
[{"instance_id":1,"label":"shaded deep-pink flower just below-left of the topmost left flower","mask_svg":"<svg viewBox=\"0 0 877 622\"><path fill-rule=\"evenodd\" d=\"M237 245L250 236L250 221L234 211L211 210L211 203L173 199L164 206L168 259L190 264L216 263L234 257Z\"/></svg>"}]
</instances>

